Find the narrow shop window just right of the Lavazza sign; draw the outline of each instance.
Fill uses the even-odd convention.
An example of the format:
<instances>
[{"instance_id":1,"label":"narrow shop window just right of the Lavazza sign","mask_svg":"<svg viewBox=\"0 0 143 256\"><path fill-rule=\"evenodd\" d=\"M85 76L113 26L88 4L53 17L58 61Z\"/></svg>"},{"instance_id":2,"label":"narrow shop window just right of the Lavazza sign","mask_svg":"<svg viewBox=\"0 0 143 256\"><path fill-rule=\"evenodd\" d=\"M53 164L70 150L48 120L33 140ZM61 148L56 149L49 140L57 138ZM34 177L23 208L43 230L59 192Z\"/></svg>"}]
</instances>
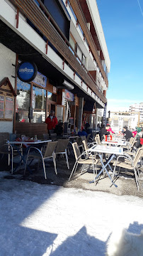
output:
<instances>
[{"instance_id":1,"label":"narrow shop window just right of the Lavazza sign","mask_svg":"<svg viewBox=\"0 0 143 256\"><path fill-rule=\"evenodd\" d=\"M45 122L45 106L46 106L46 90L33 86L32 107L33 119L32 123Z\"/></svg>"}]
</instances>

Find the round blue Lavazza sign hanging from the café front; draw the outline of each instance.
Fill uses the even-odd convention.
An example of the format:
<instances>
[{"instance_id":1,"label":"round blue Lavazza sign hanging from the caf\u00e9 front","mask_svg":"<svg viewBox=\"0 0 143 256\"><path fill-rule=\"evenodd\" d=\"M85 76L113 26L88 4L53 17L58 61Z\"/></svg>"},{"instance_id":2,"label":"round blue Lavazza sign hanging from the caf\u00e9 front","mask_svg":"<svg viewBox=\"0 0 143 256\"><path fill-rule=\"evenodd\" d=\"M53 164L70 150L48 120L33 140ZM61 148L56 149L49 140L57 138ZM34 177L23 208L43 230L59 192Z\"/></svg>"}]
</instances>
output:
<instances>
[{"instance_id":1,"label":"round blue Lavazza sign hanging from the caf\u00e9 front","mask_svg":"<svg viewBox=\"0 0 143 256\"><path fill-rule=\"evenodd\" d=\"M38 73L35 63L22 62L18 65L17 75L23 82L31 82Z\"/></svg>"}]
</instances>

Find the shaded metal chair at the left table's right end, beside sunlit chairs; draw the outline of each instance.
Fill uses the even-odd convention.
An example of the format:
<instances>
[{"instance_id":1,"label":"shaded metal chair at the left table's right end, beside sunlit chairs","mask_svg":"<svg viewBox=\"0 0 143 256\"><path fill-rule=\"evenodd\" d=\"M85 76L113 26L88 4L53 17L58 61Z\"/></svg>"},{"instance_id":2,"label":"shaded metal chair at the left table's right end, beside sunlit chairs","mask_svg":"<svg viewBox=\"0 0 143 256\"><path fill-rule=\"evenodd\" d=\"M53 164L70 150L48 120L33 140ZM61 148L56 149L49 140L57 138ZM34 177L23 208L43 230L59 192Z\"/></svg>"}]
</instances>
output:
<instances>
[{"instance_id":1,"label":"shaded metal chair at the left table's right end, beside sunlit chairs","mask_svg":"<svg viewBox=\"0 0 143 256\"><path fill-rule=\"evenodd\" d=\"M67 168L69 169L69 161L67 157L67 145L69 144L69 139L59 139L57 141L57 147L55 149L55 154L65 154L67 160Z\"/></svg>"}]
</instances>

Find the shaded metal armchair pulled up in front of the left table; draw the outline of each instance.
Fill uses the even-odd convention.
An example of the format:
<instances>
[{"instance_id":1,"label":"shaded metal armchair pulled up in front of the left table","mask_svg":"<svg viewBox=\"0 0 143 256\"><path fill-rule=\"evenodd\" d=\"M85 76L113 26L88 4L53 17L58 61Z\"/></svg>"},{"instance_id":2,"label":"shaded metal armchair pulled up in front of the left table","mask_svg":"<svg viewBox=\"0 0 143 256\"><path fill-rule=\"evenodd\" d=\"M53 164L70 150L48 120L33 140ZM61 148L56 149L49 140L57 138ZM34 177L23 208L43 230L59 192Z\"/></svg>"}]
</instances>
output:
<instances>
[{"instance_id":1,"label":"shaded metal armchair pulled up in front of the left table","mask_svg":"<svg viewBox=\"0 0 143 256\"><path fill-rule=\"evenodd\" d=\"M25 163L25 170L26 170L28 159L32 159L32 161L33 161L33 159L39 159L39 162L40 162L40 159L42 159L44 175L45 175L45 179L47 179L46 171L45 171L45 159L52 158L52 160L54 162L54 166L55 166L55 173L57 174L56 156L55 156L56 146L57 146L57 142L47 142L47 146L46 146L45 150L43 150L43 151L41 151L40 149L38 149L36 147L31 146L30 149L28 150L28 156L27 156L26 163ZM33 151L31 151L31 149ZM30 164L32 161L30 161ZM25 170L24 170L24 175L25 175Z\"/></svg>"}]
</instances>

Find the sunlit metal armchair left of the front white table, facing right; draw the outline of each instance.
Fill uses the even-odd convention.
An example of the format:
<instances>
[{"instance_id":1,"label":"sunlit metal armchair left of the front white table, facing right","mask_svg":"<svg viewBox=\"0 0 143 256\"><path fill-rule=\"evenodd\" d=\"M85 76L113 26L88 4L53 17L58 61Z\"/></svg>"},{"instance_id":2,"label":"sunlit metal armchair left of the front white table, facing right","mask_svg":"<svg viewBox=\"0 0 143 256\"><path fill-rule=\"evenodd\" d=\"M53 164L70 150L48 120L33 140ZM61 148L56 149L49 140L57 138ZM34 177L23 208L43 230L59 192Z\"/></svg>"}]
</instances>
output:
<instances>
[{"instance_id":1,"label":"sunlit metal armchair left of the front white table, facing right","mask_svg":"<svg viewBox=\"0 0 143 256\"><path fill-rule=\"evenodd\" d=\"M91 153L87 154L86 152L84 152L84 153L80 154L79 146L76 142L74 142L72 144L72 146L73 146L73 149L74 149L74 156L75 156L76 161L75 161L74 167L71 171L71 175L69 176L69 181L71 179L72 174L76 173L76 169L77 169L77 166L79 164L82 164L81 174L84 170L85 164L92 164L93 165L94 182L95 182L95 178L96 178L96 176L95 176L95 165L97 164L98 160L93 159L93 156L92 156ZM84 156L84 159L82 159L83 156ZM88 159L88 156L91 156L91 159Z\"/></svg>"}]
</instances>

